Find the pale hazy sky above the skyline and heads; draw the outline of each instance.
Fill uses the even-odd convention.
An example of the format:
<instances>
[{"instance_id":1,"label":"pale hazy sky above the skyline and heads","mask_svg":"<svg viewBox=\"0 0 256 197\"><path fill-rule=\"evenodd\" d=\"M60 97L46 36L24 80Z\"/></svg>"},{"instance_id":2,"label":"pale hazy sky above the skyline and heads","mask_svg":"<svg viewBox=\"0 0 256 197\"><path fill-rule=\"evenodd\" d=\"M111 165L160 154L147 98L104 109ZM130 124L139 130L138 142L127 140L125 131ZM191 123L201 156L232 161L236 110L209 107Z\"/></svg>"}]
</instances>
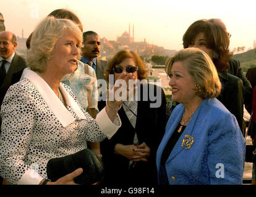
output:
<instances>
[{"instance_id":1,"label":"pale hazy sky above the skyline and heads","mask_svg":"<svg viewBox=\"0 0 256 197\"><path fill-rule=\"evenodd\" d=\"M134 41L182 49L182 35L189 25L202 18L221 18L231 33L230 49L252 48L256 39L256 0L1 0L6 30L24 37L54 9L68 8L83 24L83 31L93 30L108 40L116 40L124 31Z\"/></svg>"}]
</instances>

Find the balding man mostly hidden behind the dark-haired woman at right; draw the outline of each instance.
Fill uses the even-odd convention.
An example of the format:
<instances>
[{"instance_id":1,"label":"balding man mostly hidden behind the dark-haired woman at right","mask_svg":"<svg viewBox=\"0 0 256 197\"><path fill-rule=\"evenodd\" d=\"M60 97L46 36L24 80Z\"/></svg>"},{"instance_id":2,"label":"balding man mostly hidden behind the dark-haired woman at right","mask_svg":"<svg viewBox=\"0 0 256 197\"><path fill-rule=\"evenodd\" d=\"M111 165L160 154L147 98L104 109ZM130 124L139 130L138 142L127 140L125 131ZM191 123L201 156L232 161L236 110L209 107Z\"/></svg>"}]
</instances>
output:
<instances>
[{"instance_id":1,"label":"balding man mostly hidden behind the dark-haired woman at right","mask_svg":"<svg viewBox=\"0 0 256 197\"><path fill-rule=\"evenodd\" d=\"M221 19L219 18L211 18L208 20L210 23L213 23L215 25L221 26L226 33L228 34L229 38L231 38L231 34L228 33L226 29L226 25L222 22ZM250 85L250 82L248 81L247 78L245 78L242 68L240 66L239 60L235 60L234 58L231 58L229 61L229 68L228 68L228 73L233 74L234 76L237 76L237 78L242 79L242 84L244 85L244 104L245 108L249 113L252 113L252 94L253 94L253 89L252 86Z\"/></svg>"}]
</instances>

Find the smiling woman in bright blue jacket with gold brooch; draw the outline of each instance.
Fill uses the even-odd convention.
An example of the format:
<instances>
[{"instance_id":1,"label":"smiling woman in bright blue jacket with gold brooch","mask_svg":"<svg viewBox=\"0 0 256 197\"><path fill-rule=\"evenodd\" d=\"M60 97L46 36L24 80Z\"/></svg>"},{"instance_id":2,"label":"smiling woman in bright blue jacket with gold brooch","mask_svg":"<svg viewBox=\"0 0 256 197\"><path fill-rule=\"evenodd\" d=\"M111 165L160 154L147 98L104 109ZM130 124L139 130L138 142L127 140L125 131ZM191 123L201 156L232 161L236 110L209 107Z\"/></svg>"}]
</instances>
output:
<instances>
[{"instance_id":1,"label":"smiling woman in bright blue jacket with gold brooch","mask_svg":"<svg viewBox=\"0 0 256 197\"><path fill-rule=\"evenodd\" d=\"M242 184L245 140L217 97L221 83L211 58L194 47L166 62L174 108L158 147L158 182Z\"/></svg>"}]
</instances>

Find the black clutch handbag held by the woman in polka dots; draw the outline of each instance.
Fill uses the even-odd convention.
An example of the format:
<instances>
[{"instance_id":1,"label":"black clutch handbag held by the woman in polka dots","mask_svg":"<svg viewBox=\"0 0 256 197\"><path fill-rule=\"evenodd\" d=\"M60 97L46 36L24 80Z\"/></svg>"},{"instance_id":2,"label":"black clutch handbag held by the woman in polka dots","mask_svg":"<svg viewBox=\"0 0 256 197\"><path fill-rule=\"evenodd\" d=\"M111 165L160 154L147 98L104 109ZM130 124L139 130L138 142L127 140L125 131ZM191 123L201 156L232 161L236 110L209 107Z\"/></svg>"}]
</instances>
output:
<instances>
[{"instance_id":1,"label":"black clutch handbag held by the woman in polka dots","mask_svg":"<svg viewBox=\"0 0 256 197\"><path fill-rule=\"evenodd\" d=\"M90 185L100 181L104 175L101 159L92 150L86 148L72 155L50 159L46 166L48 179L56 181L82 167L83 173L75 177L74 182Z\"/></svg>"}]
</instances>

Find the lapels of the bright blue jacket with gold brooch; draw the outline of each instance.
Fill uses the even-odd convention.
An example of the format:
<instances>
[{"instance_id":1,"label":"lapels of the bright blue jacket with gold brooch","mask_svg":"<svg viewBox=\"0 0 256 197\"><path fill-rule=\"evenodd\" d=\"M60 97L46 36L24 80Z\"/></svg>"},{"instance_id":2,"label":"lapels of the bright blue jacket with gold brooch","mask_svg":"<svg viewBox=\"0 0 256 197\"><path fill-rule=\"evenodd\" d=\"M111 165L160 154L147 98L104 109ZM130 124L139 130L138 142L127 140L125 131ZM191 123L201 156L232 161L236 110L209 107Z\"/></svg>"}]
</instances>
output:
<instances>
[{"instance_id":1,"label":"lapels of the bright blue jacket with gold brooch","mask_svg":"<svg viewBox=\"0 0 256 197\"><path fill-rule=\"evenodd\" d=\"M194 143L197 143L197 141L196 141L197 139L196 139L196 136L193 135L193 131L194 131L194 126L197 122L197 118L199 116L199 113L201 111L201 108L203 107L203 103L205 103L205 102L207 102L207 99L204 99L203 102L200 103L199 107L197 108L194 115L190 119L189 124L187 124L187 126L186 126L186 129L183 131L183 133L181 134L181 137L179 137L179 139L177 140L176 145L173 147L173 150L171 151L171 154L169 155L169 158L166 161L166 165L168 165L168 162L171 161L182 150L188 151L188 150L185 150L182 147L182 141L183 141L185 135L192 136L194 138ZM182 110L180 110L179 113L176 116L177 118L175 119L173 124L169 127L167 133L164 134L165 136L168 136L168 137L165 137L165 136L163 137L164 141L163 141L163 145L161 145L161 154L160 155L162 155L163 150L166 147L166 144L168 143L169 139L171 138L171 135L173 135L173 132L176 132L177 124L181 120L181 117L182 117L183 113L184 113L184 107L182 106Z\"/></svg>"}]
</instances>

